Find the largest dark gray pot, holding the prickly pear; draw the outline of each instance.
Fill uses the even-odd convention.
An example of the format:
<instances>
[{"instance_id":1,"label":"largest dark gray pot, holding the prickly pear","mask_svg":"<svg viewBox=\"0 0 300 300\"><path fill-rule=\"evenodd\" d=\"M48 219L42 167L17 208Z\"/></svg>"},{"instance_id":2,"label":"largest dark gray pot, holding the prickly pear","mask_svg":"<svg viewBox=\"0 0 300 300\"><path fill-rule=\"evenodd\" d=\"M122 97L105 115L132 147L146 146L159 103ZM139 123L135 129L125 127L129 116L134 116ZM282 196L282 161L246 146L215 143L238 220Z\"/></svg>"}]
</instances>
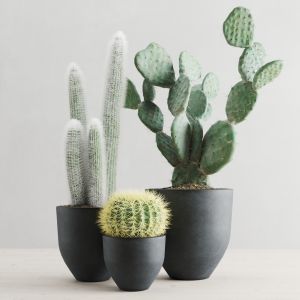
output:
<instances>
[{"instance_id":1,"label":"largest dark gray pot, holding the prickly pear","mask_svg":"<svg viewBox=\"0 0 300 300\"><path fill-rule=\"evenodd\" d=\"M172 211L164 260L168 275L180 280L208 278L229 243L233 191L154 191L165 197Z\"/></svg>"}]
</instances>

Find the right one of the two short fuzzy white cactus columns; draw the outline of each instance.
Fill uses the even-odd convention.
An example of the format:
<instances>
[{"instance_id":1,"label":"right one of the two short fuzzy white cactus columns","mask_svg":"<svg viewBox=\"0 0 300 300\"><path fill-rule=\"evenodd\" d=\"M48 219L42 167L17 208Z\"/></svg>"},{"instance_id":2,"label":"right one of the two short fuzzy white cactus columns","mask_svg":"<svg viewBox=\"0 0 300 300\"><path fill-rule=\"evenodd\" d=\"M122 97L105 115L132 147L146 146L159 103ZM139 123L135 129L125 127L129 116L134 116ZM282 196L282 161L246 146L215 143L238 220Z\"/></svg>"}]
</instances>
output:
<instances>
[{"instance_id":1,"label":"right one of the two short fuzzy white cactus columns","mask_svg":"<svg viewBox=\"0 0 300 300\"><path fill-rule=\"evenodd\" d=\"M88 203L101 207L106 200L106 163L103 128L98 119L92 119L89 124L88 155Z\"/></svg>"}]
</instances>

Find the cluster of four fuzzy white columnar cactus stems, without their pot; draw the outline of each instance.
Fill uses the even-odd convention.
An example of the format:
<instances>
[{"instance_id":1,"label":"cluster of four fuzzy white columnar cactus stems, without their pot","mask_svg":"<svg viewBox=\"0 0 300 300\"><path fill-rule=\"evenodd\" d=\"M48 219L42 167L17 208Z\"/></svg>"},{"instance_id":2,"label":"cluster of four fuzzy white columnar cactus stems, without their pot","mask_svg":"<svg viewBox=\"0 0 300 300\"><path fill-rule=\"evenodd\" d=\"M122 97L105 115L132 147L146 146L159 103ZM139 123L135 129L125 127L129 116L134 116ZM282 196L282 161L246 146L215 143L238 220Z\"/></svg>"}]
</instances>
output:
<instances>
[{"instance_id":1,"label":"cluster of four fuzzy white columnar cactus stems, without their pot","mask_svg":"<svg viewBox=\"0 0 300 300\"><path fill-rule=\"evenodd\" d=\"M71 120L66 134L66 165L73 205L100 207L115 189L119 107L126 81L122 67L125 45L124 35L117 33L110 50L103 120L105 134L98 119L92 119L87 126L82 72L74 63L69 67Z\"/></svg>"}]
</instances>

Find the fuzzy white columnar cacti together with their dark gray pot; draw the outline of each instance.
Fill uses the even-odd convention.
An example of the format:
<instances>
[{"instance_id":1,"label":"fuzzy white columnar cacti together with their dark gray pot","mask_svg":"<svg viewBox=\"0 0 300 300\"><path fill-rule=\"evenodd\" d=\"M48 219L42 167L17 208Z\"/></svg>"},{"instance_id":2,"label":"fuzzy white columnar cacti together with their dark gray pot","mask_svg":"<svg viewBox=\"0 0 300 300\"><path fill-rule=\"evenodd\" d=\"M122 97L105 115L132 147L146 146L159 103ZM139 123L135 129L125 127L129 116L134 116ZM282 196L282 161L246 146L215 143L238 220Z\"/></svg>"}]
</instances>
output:
<instances>
[{"instance_id":1,"label":"fuzzy white columnar cacti together with their dark gray pot","mask_svg":"<svg viewBox=\"0 0 300 300\"><path fill-rule=\"evenodd\" d=\"M75 64L69 68L71 120L66 131L66 168L72 204L58 206L56 212L59 249L79 281L110 277L96 221L99 209L116 188L125 49L125 37L117 33L110 49L103 123L92 119L87 125L81 71Z\"/></svg>"}]
</instances>

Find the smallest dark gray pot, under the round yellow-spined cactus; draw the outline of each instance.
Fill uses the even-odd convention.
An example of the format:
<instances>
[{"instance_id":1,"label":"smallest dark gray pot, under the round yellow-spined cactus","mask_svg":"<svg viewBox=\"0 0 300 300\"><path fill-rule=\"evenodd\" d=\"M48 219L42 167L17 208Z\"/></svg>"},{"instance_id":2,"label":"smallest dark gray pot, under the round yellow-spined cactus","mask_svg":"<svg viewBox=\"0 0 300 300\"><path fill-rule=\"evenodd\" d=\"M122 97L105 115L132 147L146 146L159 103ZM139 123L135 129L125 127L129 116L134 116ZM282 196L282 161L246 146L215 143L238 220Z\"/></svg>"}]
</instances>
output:
<instances>
[{"instance_id":1,"label":"smallest dark gray pot, under the round yellow-spined cactus","mask_svg":"<svg viewBox=\"0 0 300 300\"><path fill-rule=\"evenodd\" d=\"M165 236L103 236L104 260L119 289L143 291L151 286L164 261L165 242Z\"/></svg>"}]
</instances>

